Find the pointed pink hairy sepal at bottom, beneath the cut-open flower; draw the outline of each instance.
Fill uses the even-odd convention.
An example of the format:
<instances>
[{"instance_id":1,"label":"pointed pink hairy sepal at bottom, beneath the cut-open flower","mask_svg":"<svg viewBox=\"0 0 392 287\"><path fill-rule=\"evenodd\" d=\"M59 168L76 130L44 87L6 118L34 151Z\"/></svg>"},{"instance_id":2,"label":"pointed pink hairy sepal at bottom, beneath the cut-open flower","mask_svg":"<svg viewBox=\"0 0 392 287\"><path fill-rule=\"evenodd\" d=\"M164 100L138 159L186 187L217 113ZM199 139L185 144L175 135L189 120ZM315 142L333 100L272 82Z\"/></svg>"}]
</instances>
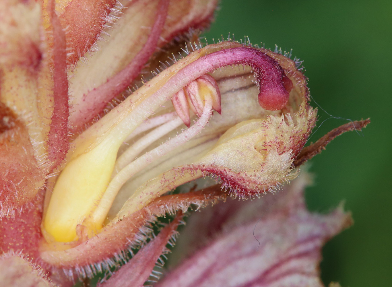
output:
<instances>
[{"instance_id":1,"label":"pointed pink hairy sepal at bottom, beneath the cut-open flower","mask_svg":"<svg viewBox=\"0 0 392 287\"><path fill-rule=\"evenodd\" d=\"M121 267L102 287L138 287L143 286L149 278L156 261L167 251L167 242L176 234L176 227L181 219L178 216L167 227L162 229L158 236L145 247L140 249L132 259Z\"/></svg>"}]
</instances>

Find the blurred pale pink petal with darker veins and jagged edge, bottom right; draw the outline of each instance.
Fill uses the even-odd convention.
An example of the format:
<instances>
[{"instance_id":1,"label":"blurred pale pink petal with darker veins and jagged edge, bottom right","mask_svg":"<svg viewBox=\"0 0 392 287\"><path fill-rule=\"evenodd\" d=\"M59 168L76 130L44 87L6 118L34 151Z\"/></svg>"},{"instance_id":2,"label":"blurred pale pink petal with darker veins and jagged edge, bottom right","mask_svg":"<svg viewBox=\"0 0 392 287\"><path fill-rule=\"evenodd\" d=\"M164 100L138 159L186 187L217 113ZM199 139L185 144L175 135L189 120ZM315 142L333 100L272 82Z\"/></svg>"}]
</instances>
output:
<instances>
[{"instance_id":1,"label":"blurred pale pink petal with darker veins and jagged edge, bottom right","mask_svg":"<svg viewBox=\"0 0 392 287\"><path fill-rule=\"evenodd\" d=\"M321 247L352 220L341 207L327 215L309 213L303 202L305 184L302 175L267 200L228 200L215 207L216 217L207 211L191 219L184 233L192 232L194 246L205 242L207 234L215 233L215 238L158 286L324 286L319 279ZM208 218L217 223L197 229ZM179 242L178 247L184 246Z\"/></svg>"}]
</instances>

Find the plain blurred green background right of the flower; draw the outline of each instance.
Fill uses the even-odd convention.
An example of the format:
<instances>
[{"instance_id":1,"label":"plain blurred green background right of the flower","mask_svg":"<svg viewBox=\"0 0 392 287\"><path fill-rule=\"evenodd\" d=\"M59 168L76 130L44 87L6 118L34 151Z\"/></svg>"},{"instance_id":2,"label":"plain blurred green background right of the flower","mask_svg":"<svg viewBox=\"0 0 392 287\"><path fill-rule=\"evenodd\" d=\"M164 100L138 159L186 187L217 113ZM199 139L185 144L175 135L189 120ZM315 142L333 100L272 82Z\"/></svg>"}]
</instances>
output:
<instances>
[{"instance_id":1,"label":"plain blurred green background right of the flower","mask_svg":"<svg viewBox=\"0 0 392 287\"><path fill-rule=\"evenodd\" d=\"M211 40L229 32L266 48L292 48L320 107L333 116L371 118L363 133L340 136L311 160L316 177L306 195L312 211L344 200L355 221L323 249L323 281L391 286L392 1L222 0L204 35ZM319 110L319 123L327 118ZM346 122L328 119L311 140Z\"/></svg>"}]
</instances>

